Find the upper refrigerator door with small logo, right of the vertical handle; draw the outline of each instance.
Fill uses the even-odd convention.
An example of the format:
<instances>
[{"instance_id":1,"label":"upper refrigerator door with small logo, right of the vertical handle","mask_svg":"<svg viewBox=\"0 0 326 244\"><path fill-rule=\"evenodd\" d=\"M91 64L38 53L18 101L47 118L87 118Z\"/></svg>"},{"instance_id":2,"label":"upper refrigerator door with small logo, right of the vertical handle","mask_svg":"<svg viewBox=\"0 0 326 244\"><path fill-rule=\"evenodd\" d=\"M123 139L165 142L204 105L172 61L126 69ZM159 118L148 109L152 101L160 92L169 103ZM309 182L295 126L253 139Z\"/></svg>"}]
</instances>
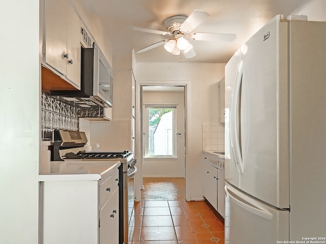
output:
<instances>
[{"instance_id":1,"label":"upper refrigerator door with small logo, right of the vertical handle","mask_svg":"<svg viewBox=\"0 0 326 244\"><path fill-rule=\"evenodd\" d=\"M275 17L242 48L240 112L235 117L240 124L239 188L288 208L287 23Z\"/></svg>"}]
</instances>

